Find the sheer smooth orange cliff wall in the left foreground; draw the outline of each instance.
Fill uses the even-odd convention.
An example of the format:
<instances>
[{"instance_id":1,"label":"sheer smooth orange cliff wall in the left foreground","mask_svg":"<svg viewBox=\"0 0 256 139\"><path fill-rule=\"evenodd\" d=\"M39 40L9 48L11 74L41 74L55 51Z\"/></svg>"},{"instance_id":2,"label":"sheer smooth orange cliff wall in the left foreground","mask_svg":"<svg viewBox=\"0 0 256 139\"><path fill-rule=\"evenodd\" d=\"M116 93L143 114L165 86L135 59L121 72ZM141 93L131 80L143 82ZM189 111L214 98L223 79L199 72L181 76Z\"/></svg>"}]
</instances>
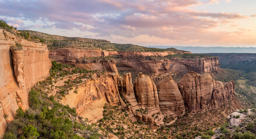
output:
<instances>
[{"instance_id":1,"label":"sheer smooth orange cliff wall in the left foreground","mask_svg":"<svg viewBox=\"0 0 256 139\"><path fill-rule=\"evenodd\" d=\"M23 50L10 50L15 42L20 43ZM46 45L22 40L0 30L0 135L19 107L29 108L30 87L47 76L50 67Z\"/></svg>"}]
</instances>

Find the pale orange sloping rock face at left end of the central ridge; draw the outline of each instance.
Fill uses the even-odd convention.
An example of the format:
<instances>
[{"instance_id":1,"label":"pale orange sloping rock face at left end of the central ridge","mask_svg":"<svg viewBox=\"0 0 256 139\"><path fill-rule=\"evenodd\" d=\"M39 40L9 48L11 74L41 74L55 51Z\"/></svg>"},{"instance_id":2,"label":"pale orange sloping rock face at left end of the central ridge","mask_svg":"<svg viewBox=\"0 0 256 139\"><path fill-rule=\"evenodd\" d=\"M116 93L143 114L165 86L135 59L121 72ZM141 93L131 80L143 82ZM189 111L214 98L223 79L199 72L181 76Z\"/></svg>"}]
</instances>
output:
<instances>
[{"instance_id":1,"label":"pale orange sloping rock face at left end of the central ridge","mask_svg":"<svg viewBox=\"0 0 256 139\"><path fill-rule=\"evenodd\" d=\"M103 118L105 103L117 105L119 102L116 74L89 79L72 89L61 101L62 104L76 108L78 115L87 118L89 122L97 122Z\"/></svg>"}]
</instances>

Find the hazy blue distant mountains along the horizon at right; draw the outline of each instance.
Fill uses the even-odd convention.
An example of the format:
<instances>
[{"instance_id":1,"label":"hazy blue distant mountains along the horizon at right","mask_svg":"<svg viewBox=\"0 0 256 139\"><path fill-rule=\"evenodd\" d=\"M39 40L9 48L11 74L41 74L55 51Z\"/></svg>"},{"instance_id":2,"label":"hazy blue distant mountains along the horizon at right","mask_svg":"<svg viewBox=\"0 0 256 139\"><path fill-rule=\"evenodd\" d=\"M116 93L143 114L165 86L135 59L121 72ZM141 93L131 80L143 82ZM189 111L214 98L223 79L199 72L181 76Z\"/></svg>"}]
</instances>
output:
<instances>
[{"instance_id":1,"label":"hazy blue distant mountains along the horizon at right","mask_svg":"<svg viewBox=\"0 0 256 139\"><path fill-rule=\"evenodd\" d=\"M174 47L192 53L256 53L256 47L146 46L166 49Z\"/></svg>"}]
</instances>

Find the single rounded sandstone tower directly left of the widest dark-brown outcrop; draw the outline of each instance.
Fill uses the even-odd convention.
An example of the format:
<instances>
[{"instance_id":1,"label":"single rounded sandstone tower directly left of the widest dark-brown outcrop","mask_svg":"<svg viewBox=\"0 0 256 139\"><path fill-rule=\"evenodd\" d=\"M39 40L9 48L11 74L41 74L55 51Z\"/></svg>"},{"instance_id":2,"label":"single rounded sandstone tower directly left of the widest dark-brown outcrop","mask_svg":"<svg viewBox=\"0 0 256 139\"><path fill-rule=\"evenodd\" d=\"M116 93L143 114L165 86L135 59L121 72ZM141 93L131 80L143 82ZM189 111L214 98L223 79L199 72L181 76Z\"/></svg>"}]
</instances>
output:
<instances>
[{"instance_id":1,"label":"single rounded sandstone tower directly left of the widest dark-brown outcrop","mask_svg":"<svg viewBox=\"0 0 256 139\"><path fill-rule=\"evenodd\" d=\"M171 76L166 76L157 84L160 110L167 116L180 116L185 114L183 97L178 85Z\"/></svg>"}]
</instances>

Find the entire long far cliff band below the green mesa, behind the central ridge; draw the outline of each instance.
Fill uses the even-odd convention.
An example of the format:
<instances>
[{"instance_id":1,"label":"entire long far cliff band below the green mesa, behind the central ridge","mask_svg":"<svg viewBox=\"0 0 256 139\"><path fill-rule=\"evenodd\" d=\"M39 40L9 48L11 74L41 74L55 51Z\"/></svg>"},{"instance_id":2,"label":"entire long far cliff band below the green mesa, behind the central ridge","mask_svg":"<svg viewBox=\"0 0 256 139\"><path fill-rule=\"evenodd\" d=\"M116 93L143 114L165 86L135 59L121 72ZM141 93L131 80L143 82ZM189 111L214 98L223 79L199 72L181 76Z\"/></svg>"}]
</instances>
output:
<instances>
[{"instance_id":1,"label":"entire long far cliff band below the green mesa, behind the central ridge","mask_svg":"<svg viewBox=\"0 0 256 139\"><path fill-rule=\"evenodd\" d=\"M97 69L117 73L117 70L108 67L116 67L118 70L136 69L138 71L153 72L153 74L162 74L164 72L179 72L181 75L189 71L198 73L208 73L220 68L218 57L205 58L170 58L170 59L150 59L148 56L167 56L170 54L183 54L188 52L118 52L105 50L79 50L79 49L57 49L50 50L52 60L66 62L86 69ZM112 61L102 64L102 60L96 57L115 57ZM83 60L83 58L92 58L96 60ZM103 60L104 61L104 60ZM105 60L106 61L106 60Z\"/></svg>"}]
</instances>

